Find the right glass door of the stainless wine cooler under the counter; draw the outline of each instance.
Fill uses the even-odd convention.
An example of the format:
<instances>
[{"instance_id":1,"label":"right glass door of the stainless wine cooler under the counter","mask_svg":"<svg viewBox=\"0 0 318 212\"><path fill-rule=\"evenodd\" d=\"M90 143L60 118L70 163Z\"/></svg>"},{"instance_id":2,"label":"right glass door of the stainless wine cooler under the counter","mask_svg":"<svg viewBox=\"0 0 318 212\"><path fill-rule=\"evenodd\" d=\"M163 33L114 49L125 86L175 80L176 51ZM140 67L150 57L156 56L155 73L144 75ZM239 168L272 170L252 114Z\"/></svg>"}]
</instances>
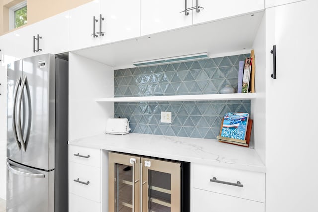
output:
<instances>
[{"instance_id":1,"label":"right glass door of the stainless wine cooler under the counter","mask_svg":"<svg viewBox=\"0 0 318 212\"><path fill-rule=\"evenodd\" d=\"M180 212L180 163L141 161L142 212Z\"/></svg>"}]
</instances>

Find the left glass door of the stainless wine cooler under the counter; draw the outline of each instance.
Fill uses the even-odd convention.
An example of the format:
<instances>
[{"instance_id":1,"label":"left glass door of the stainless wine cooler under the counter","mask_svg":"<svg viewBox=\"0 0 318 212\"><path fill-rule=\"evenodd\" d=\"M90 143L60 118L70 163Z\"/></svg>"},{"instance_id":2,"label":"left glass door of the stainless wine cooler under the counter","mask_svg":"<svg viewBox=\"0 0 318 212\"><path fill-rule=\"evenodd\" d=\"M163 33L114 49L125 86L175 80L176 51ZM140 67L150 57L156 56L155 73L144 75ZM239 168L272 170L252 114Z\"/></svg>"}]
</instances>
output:
<instances>
[{"instance_id":1,"label":"left glass door of the stainless wine cooler under the counter","mask_svg":"<svg viewBox=\"0 0 318 212\"><path fill-rule=\"evenodd\" d=\"M110 212L139 212L140 158L109 153Z\"/></svg>"}]
</instances>

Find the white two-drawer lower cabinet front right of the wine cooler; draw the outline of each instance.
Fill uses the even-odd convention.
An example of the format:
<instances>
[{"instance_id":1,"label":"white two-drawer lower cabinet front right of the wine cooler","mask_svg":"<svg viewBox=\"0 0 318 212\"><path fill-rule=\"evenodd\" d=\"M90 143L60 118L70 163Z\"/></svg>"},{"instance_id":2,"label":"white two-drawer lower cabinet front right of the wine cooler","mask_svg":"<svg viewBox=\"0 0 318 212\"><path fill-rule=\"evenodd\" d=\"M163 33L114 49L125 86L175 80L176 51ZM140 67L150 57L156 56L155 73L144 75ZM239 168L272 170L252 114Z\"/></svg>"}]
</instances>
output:
<instances>
[{"instance_id":1,"label":"white two-drawer lower cabinet front right of the wine cooler","mask_svg":"<svg viewBox=\"0 0 318 212\"><path fill-rule=\"evenodd\" d=\"M265 174L193 164L193 212L264 212Z\"/></svg>"}]
</instances>

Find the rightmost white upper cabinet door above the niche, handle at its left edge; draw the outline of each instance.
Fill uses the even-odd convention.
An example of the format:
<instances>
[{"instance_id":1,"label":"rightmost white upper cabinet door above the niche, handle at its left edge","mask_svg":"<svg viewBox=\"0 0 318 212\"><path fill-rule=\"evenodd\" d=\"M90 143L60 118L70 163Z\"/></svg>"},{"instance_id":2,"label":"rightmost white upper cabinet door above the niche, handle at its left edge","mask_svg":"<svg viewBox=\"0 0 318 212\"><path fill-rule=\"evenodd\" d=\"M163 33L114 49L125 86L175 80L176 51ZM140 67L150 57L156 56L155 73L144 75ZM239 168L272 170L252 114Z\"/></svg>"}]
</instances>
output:
<instances>
[{"instance_id":1,"label":"rightmost white upper cabinet door above the niche, handle at its left edge","mask_svg":"<svg viewBox=\"0 0 318 212\"><path fill-rule=\"evenodd\" d=\"M196 2L193 6L197 6ZM198 0L198 4L204 9L193 11L193 24L264 10L264 0Z\"/></svg>"}]
</instances>

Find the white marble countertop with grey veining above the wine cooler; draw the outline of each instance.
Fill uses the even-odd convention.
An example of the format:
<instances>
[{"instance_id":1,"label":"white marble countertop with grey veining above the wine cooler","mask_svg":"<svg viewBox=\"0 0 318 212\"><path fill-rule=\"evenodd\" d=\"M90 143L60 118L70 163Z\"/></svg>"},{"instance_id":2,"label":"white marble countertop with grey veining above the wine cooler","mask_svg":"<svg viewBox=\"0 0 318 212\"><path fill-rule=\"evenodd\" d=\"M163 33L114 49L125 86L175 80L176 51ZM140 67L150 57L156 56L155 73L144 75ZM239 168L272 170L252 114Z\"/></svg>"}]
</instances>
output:
<instances>
[{"instance_id":1,"label":"white marble countertop with grey veining above the wine cooler","mask_svg":"<svg viewBox=\"0 0 318 212\"><path fill-rule=\"evenodd\" d=\"M69 141L69 145L98 148L265 173L255 149L220 143L213 139L129 133L102 134Z\"/></svg>"}]
</instances>

